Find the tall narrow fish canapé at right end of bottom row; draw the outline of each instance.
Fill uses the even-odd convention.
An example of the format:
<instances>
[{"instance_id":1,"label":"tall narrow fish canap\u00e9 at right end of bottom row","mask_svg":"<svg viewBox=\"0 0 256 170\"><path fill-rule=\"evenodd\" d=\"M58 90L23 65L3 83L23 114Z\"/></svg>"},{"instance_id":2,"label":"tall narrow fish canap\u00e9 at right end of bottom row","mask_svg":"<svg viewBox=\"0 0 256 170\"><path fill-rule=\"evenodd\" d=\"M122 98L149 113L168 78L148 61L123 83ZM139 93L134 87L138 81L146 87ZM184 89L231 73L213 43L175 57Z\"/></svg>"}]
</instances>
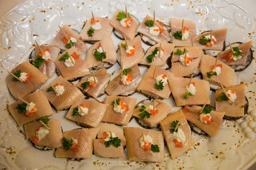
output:
<instances>
[{"instance_id":1,"label":"tall narrow fish canap\u00e9 at right end of bottom row","mask_svg":"<svg viewBox=\"0 0 256 170\"><path fill-rule=\"evenodd\" d=\"M177 158L195 145L190 127L181 109L160 122L160 128L172 159ZM177 134L182 135L182 138L177 137Z\"/></svg>"}]
</instances>

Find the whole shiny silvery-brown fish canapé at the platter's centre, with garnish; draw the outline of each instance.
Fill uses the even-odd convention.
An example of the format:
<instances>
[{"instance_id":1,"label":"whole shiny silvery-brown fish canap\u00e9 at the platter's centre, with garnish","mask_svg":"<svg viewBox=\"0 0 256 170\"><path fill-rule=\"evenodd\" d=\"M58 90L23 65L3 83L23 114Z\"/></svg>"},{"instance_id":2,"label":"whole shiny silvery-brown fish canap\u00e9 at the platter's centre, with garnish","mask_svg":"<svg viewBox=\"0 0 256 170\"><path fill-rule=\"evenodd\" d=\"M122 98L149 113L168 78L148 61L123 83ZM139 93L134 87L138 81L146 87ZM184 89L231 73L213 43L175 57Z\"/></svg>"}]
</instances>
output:
<instances>
[{"instance_id":1,"label":"whole shiny silvery-brown fish canap\u00e9 at the platter's centre, with garnish","mask_svg":"<svg viewBox=\"0 0 256 170\"><path fill-rule=\"evenodd\" d=\"M126 75L123 74L122 78L120 75L120 69L119 74L108 84L108 86L105 88L105 91L108 93L108 95L126 96L126 94L132 94L137 90L137 87L139 86L142 79L139 66L134 65L133 67L128 69L131 69L131 72L128 72ZM123 73L124 72L126 72L126 70L123 71Z\"/></svg>"}]
</instances>

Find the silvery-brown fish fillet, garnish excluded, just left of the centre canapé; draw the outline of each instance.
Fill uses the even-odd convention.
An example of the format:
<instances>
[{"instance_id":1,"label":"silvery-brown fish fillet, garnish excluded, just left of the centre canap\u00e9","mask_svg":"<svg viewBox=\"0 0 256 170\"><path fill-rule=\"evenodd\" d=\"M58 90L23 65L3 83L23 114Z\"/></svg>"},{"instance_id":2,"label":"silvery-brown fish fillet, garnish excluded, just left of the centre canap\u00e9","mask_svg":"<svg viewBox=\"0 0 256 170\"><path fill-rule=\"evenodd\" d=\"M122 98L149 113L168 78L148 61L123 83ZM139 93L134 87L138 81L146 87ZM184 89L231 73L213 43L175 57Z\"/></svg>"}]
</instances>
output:
<instances>
[{"instance_id":1,"label":"silvery-brown fish fillet, garnish excluded, just left of the centre canap\u00e9","mask_svg":"<svg viewBox=\"0 0 256 170\"><path fill-rule=\"evenodd\" d=\"M108 85L110 74L107 73L107 70L105 68L101 68L98 71L96 71L94 75L98 80L95 86L90 87L90 85L88 85L86 88L84 88L84 84L86 84L88 82L88 79L90 77L93 77L93 75L90 75L89 77L81 80L81 82L79 82L76 86L85 93L87 93L89 96L97 98L100 94L102 94L102 92L104 92L105 87Z\"/></svg>"}]
</instances>

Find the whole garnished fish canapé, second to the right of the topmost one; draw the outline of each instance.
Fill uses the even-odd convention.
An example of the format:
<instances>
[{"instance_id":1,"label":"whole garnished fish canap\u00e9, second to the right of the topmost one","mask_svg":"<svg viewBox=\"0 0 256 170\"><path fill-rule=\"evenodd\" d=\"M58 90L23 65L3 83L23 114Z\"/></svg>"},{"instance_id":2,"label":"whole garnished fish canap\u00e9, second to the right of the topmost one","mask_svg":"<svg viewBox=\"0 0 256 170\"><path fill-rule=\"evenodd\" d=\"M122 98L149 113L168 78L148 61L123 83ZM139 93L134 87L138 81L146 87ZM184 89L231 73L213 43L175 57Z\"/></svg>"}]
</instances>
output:
<instances>
[{"instance_id":1,"label":"whole garnished fish canap\u00e9, second to the right of the topmost one","mask_svg":"<svg viewBox=\"0 0 256 170\"><path fill-rule=\"evenodd\" d=\"M182 20L178 20L176 18L170 18L169 24L171 26L172 31L172 43L175 44L176 47L186 47L193 46L192 37L196 36L196 25L192 23L190 20L184 20L183 30L182 29ZM180 36L174 36L173 34L177 34L176 32L180 31Z\"/></svg>"}]
</instances>

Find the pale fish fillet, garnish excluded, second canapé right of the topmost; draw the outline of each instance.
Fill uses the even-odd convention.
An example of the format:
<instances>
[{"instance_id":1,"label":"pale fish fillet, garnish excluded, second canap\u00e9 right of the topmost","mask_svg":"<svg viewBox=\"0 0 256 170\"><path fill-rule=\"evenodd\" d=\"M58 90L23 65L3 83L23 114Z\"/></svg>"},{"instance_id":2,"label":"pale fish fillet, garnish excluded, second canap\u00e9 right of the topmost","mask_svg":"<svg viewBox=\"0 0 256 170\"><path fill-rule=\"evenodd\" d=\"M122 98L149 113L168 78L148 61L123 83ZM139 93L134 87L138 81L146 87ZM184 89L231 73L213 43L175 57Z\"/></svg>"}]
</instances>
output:
<instances>
[{"instance_id":1,"label":"pale fish fillet, garnish excluded, second canap\u00e9 right of the topmost","mask_svg":"<svg viewBox=\"0 0 256 170\"><path fill-rule=\"evenodd\" d=\"M169 24L171 26L172 35L177 31L182 31L182 20L170 18ZM174 43L176 47L193 46L192 37L196 36L195 23L192 23L192 21L190 20L184 20L183 28L184 27L189 29L189 37L187 38L187 40L180 40L172 36L172 43Z\"/></svg>"}]
</instances>

